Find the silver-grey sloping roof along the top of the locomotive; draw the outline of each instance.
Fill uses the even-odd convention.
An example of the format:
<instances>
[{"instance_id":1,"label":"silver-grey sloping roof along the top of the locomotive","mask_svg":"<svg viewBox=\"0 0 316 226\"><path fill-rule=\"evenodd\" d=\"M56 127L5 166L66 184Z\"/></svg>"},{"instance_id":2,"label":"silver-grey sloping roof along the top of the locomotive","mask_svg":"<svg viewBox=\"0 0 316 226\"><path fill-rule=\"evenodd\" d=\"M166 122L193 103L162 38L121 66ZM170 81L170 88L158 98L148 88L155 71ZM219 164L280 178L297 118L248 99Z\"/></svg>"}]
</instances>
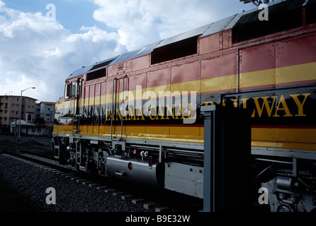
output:
<instances>
[{"instance_id":1,"label":"silver-grey sloping roof along the top of the locomotive","mask_svg":"<svg viewBox=\"0 0 316 226\"><path fill-rule=\"evenodd\" d=\"M314 2L314 0L310 0L312 2ZM303 4L305 4L305 0L299 0L299 1L291 1L291 0L276 0L276 1L272 1L270 4L268 4L268 6L273 6L270 7L272 8L271 13L275 13L278 14L279 10L283 10L283 11L293 11L293 8L298 8L300 6L302 6ZM308 3L307 3L308 4ZM216 32L220 32L223 30L228 30L228 29L233 29L233 35L234 35L234 28L237 27L237 29L240 28L241 24L252 24L254 23L255 20L258 20L258 8L253 8L252 10L249 11L244 11L242 13L237 13L235 15L229 16L227 18L224 18L222 20L218 20L214 23L209 23L208 25L203 25L200 28L196 28L193 30L189 30L187 32L181 33L180 35L175 35L173 37L169 37L165 40L161 40L159 42L154 42L152 44L148 44L145 47L142 47L140 49L136 49L130 52L126 52L123 54L120 54L116 57L112 57L110 59L106 59L103 61L99 61L96 62L95 64L91 64L89 66L84 66L81 69L78 69L76 71L74 71L68 78L74 78L75 76L79 76L81 74L84 73L89 73L91 71L95 71L96 69L102 69L106 66L110 66L113 64L118 64L122 61L127 61L129 59L134 59L137 57L142 57L145 56L147 54L150 54L154 49L157 49L159 47L164 47L167 44L172 44L174 42L179 42L181 40L186 40L190 37L205 37L208 35L212 35ZM269 12L269 16L271 15L271 13ZM271 24L270 24L271 25ZM266 25L266 27L269 27L269 25ZM271 27L271 26L270 26ZM279 25L276 24L275 25L275 21L273 21L273 27L276 27L277 29L279 28ZM235 29L235 30L237 30ZM240 40L242 40L242 38L244 38L241 33L244 33L245 30L252 30L252 28L249 26L245 26L245 28L239 29L237 32L235 31L236 35L238 36L237 38L241 37ZM246 32L247 33L247 32ZM256 34L258 35L258 34ZM260 35L260 34L259 34ZM264 35L261 34L261 35ZM234 42L234 37L233 37L233 42Z\"/></svg>"}]
</instances>

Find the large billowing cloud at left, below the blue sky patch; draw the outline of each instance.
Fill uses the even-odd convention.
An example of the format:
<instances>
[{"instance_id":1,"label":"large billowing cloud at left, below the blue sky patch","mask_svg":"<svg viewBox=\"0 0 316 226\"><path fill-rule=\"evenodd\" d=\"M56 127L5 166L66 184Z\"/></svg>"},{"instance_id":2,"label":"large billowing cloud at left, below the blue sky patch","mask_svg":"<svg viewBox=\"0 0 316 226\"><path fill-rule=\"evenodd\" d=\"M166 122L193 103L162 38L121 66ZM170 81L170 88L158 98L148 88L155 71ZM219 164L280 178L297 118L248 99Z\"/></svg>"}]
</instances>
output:
<instances>
[{"instance_id":1,"label":"large billowing cloud at left, below the blue sky patch","mask_svg":"<svg viewBox=\"0 0 316 226\"><path fill-rule=\"evenodd\" d=\"M0 95L35 86L23 95L56 101L74 70L127 51L118 33L96 27L72 33L42 13L0 6Z\"/></svg>"}]
</instances>

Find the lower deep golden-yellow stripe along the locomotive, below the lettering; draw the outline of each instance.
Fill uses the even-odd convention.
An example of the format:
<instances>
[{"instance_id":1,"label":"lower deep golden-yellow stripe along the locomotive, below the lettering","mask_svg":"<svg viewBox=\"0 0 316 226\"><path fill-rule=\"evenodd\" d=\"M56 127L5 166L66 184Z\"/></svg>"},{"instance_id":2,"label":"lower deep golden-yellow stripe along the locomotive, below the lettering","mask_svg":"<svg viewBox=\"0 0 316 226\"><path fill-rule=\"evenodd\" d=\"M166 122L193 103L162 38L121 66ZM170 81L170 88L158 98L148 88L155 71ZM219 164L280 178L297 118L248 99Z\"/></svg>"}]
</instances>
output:
<instances>
[{"instance_id":1,"label":"lower deep golden-yellow stripe along the locomotive, below the lettering","mask_svg":"<svg viewBox=\"0 0 316 226\"><path fill-rule=\"evenodd\" d=\"M72 133L72 126L55 125L55 133ZM111 136L111 126L80 126L82 136ZM203 127L123 126L123 138L203 143ZM120 126L113 127L113 137L120 137ZM316 129L253 128L252 146L316 151Z\"/></svg>"}]
</instances>

